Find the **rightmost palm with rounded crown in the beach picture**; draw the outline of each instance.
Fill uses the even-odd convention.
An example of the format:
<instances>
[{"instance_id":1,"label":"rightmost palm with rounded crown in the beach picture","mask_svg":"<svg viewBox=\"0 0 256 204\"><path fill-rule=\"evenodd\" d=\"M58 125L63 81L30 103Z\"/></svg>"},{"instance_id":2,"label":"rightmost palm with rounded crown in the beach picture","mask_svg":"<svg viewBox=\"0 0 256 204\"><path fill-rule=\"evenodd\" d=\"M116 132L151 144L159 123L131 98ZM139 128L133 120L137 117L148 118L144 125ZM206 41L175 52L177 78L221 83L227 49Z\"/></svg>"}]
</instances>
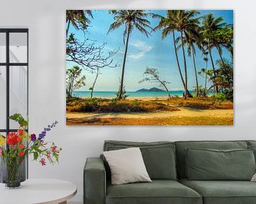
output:
<instances>
[{"instance_id":1,"label":"rightmost palm with rounded crown in the beach picture","mask_svg":"<svg viewBox=\"0 0 256 204\"><path fill-rule=\"evenodd\" d=\"M213 13L210 13L206 16L203 16L203 22L202 22L202 32L203 32L203 37L206 39L206 41L208 42L208 52L210 55L210 62L213 66L213 76L216 77L216 71L215 71L215 66L214 66L214 62L213 62L213 55L212 55L212 48L216 47L216 49L218 50L218 54L220 55L220 60L223 62L223 57L222 57L222 52L221 52L221 48L220 48L220 42L218 42L218 40L216 40L215 38L215 32L217 30L222 29L223 27L227 26L227 23L222 23L223 18L222 17L218 17L215 18L213 16ZM218 94L218 85L215 85L215 91Z\"/></svg>"}]
</instances>

